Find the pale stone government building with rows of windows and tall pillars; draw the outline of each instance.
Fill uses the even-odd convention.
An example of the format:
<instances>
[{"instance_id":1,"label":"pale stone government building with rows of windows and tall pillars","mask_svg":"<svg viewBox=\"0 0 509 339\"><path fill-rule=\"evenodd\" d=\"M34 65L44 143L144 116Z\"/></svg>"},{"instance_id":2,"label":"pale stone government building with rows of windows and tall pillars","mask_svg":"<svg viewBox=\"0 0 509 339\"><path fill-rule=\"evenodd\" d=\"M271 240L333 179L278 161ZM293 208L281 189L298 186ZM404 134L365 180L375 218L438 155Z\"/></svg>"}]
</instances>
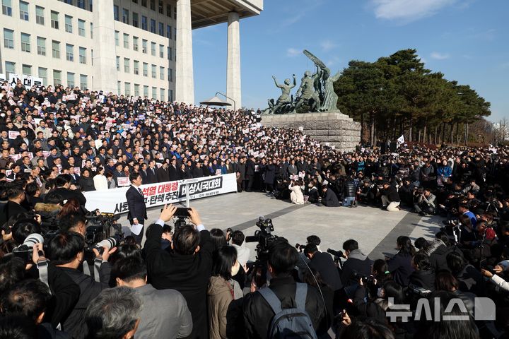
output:
<instances>
[{"instance_id":1,"label":"pale stone government building with rows of windows and tall pillars","mask_svg":"<svg viewBox=\"0 0 509 339\"><path fill-rule=\"evenodd\" d=\"M240 19L263 0L0 0L0 74L195 103L192 30L228 23L226 95L241 107Z\"/></svg>"}]
</instances>

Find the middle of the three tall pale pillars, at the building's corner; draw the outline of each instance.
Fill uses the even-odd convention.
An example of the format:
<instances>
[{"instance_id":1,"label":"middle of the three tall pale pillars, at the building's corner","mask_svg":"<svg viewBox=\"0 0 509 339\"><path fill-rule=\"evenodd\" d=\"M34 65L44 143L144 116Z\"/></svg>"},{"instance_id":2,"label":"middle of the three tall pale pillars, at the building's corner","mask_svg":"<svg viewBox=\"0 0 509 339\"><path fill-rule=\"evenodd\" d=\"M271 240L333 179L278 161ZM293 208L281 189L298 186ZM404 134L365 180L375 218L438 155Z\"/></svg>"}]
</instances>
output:
<instances>
[{"instance_id":1,"label":"middle of the three tall pale pillars, at the building's corner","mask_svg":"<svg viewBox=\"0 0 509 339\"><path fill-rule=\"evenodd\" d=\"M177 0L175 100L194 104L191 0Z\"/></svg>"}]
</instances>

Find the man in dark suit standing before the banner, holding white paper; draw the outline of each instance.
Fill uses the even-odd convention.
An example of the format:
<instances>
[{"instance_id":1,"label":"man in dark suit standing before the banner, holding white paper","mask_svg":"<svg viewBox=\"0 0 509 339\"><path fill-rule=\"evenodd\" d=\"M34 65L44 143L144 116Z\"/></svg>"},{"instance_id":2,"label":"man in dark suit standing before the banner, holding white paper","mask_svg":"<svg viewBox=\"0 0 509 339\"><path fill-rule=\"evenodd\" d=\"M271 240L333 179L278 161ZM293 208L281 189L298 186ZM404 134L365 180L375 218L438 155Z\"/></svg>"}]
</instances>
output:
<instances>
[{"instance_id":1,"label":"man in dark suit standing before the banner, holding white paper","mask_svg":"<svg viewBox=\"0 0 509 339\"><path fill-rule=\"evenodd\" d=\"M139 173L131 173L129 180L131 181L131 187L126 192L127 206L129 206L127 220L131 222L131 232L133 232L136 243L141 244L144 222L147 219L145 197L143 191L139 188L141 186L141 175ZM139 225L141 225L141 230Z\"/></svg>"}]
</instances>

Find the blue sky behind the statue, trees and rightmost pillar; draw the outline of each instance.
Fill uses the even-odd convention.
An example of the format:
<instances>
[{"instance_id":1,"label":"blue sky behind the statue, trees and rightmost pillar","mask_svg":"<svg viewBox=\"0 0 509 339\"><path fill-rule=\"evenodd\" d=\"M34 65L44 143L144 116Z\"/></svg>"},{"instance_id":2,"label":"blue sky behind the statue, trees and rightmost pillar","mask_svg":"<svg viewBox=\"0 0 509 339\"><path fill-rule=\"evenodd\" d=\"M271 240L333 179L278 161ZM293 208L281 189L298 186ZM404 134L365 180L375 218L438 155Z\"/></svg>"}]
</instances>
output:
<instances>
[{"instance_id":1,"label":"blue sky behind the statue, trees and rightmost pillar","mask_svg":"<svg viewBox=\"0 0 509 339\"><path fill-rule=\"evenodd\" d=\"M375 61L415 48L432 71L491 102L488 119L509 118L508 0L265 0L240 21L242 105L264 108L278 81L312 63L334 72L351 59ZM226 91L226 24L193 31L195 99Z\"/></svg>"}]
</instances>

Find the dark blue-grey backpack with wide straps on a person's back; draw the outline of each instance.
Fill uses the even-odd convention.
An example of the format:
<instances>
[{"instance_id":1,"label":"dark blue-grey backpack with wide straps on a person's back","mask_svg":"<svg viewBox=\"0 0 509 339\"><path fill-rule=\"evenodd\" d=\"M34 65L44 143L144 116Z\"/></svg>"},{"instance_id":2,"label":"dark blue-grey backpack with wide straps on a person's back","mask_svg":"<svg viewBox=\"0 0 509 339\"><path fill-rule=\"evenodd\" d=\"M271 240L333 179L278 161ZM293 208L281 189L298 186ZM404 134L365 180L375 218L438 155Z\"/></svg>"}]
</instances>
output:
<instances>
[{"instance_id":1,"label":"dark blue-grey backpack with wide straps on a person's back","mask_svg":"<svg viewBox=\"0 0 509 339\"><path fill-rule=\"evenodd\" d=\"M308 294L308 285L297 283L296 304L294 309L281 309L281 301L269 287L259 290L260 294L269 303L274 318L269 326L267 338L269 339L317 339L315 328L308 312L305 311L305 299Z\"/></svg>"}]
</instances>

